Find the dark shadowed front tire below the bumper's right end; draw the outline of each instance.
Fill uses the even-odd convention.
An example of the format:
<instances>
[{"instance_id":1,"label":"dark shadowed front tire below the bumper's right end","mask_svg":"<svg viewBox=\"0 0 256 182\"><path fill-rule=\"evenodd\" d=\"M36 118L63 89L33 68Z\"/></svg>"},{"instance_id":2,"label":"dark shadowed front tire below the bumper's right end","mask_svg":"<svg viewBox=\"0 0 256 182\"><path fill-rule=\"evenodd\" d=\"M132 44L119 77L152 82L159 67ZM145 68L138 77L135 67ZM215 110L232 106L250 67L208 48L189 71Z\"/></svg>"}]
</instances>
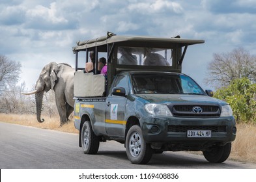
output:
<instances>
[{"instance_id":1,"label":"dark shadowed front tire below the bumper's right end","mask_svg":"<svg viewBox=\"0 0 256 182\"><path fill-rule=\"evenodd\" d=\"M216 146L210 151L203 151L203 155L208 162L221 163L227 160L231 152L231 143L225 146Z\"/></svg>"}]
</instances>

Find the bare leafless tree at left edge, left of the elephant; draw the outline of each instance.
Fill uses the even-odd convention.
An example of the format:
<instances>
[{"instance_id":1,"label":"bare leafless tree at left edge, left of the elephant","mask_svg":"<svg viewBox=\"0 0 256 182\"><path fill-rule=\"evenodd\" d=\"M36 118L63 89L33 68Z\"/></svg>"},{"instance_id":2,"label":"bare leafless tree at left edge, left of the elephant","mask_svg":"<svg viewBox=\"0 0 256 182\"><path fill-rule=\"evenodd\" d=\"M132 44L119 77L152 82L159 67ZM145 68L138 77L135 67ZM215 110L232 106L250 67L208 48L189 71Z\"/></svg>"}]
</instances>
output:
<instances>
[{"instance_id":1,"label":"bare leafless tree at left edge, left of the elephant","mask_svg":"<svg viewBox=\"0 0 256 182\"><path fill-rule=\"evenodd\" d=\"M8 85L17 83L20 78L21 64L0 55L0 94Z\"/></svg>"}]
</instances>

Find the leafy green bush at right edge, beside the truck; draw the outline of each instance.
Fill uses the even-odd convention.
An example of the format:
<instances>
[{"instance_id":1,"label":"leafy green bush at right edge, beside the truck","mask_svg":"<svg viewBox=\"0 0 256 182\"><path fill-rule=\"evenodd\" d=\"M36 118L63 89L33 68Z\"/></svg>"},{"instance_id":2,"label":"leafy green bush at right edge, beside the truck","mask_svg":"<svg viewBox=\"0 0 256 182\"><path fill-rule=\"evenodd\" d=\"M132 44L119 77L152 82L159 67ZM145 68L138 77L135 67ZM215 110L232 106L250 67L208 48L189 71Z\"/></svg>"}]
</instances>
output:
<instances>
[{"instance_id":1,"label":"leafy green bush at right edge, beside the truck","mask_svg":"<svg viewBox=\"0 0 256 182\"><path fill-rule=\"evenodd\" d=\"M220 88L214 94L231 105L238 123L256 123L256 84L248 78L235 79L229 86Z\"/></svg>"}]
</instances>

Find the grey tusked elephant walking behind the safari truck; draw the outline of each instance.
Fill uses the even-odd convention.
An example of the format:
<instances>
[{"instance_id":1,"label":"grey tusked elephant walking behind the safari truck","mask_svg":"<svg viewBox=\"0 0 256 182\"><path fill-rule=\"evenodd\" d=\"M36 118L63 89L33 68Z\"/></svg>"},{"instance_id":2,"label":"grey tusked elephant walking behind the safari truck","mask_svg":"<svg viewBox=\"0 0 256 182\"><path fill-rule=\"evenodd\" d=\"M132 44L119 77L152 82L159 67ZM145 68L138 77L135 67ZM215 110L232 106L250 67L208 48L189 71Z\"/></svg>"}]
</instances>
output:
<instances>
[{"instance_id":1,"label":"grey tusked elephant walking behind the safari truck","mask_svg":"<svg viewBox=\"0 0 256 182\"><path fill-rule=\"evenodd\" d=\"M55 92L55 101L59 112L61 124L68 123L68 117L74 111L74 73L75 69L66 63L50 62L42 69L35 90L25 95L35 94L36 99L36 118L38 122L44 122L41 119L42 98L44 92L50 89Z\"/></svg>"}]
</instances>

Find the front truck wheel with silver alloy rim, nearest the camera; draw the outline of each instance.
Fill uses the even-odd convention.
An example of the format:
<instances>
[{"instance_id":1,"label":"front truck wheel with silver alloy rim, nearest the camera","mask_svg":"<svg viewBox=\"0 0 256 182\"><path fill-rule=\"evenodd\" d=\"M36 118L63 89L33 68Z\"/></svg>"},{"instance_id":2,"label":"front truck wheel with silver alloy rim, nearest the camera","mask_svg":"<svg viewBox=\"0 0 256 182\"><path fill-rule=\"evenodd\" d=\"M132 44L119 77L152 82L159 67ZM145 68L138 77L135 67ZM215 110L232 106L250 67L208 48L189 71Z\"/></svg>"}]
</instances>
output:
<instances>
[{"instance_id":1,"label":"front truck wheel with silver alloy rim, nearest the camera","mask_svg":"<svg viewBox=\"0 0 256 182\"><path fill-rule=\"evenodd\" d=\"M132 164L147 164L152 157L152 149L143 139L139 125L130 127L126 135L126 154Z\"/></svg>"}]
</instances>

